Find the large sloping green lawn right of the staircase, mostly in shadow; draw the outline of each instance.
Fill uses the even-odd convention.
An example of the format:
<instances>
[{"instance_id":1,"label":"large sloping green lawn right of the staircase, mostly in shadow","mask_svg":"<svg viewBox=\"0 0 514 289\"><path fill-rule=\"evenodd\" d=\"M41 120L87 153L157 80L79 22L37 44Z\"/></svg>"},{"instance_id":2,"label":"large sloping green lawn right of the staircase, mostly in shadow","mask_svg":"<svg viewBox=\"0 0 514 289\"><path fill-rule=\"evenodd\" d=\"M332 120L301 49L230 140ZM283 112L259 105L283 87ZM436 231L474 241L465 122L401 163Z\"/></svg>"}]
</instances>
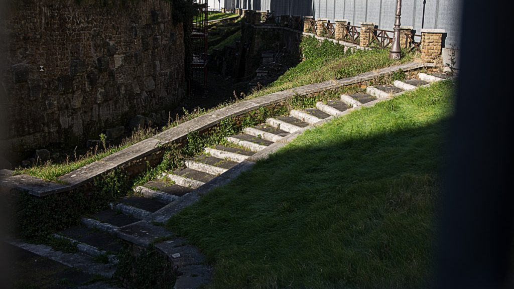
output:
<instances>
[{"instance_id":1,"label":"large sloping green lawn right of the staircase, mostly in shadow","mask_svg":"<svg viewBox=\"0 0 514 289\"><path fill-rule=\"evenodd\" d=\"M422 288L454 82L308 131L167 227L214 288Z\"/></svg>"}]
</instances>

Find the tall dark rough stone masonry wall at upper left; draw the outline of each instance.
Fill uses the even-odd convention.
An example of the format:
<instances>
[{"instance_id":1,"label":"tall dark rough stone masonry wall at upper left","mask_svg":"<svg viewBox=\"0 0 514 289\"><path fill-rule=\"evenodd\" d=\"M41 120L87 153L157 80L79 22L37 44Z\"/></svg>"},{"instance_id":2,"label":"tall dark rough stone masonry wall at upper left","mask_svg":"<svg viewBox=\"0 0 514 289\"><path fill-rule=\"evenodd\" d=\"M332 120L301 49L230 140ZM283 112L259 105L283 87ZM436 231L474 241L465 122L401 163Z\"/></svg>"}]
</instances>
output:
<instances>
[{"instance_id":1,"label":"tall dark rough stone masonry wall at upper left","mask_svg":"<svg viewBox=\"0 0 514 289\"><path fill-rule=\"evenodd\" d=\"M8 145L75 145L185 94L182 24L169 1L25 0L0 24Z\"/></svg>"}]
</instances>

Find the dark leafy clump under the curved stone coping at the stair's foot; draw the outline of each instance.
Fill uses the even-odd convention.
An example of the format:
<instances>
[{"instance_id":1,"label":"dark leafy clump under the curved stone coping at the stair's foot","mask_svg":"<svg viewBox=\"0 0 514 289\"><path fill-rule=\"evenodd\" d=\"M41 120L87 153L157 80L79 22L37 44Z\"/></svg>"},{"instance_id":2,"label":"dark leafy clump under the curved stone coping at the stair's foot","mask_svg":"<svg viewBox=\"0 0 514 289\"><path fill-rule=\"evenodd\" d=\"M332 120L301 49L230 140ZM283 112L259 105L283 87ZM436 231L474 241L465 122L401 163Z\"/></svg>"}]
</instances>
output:
<instances>
[{"instance_id":1,"label":"dark leafy clump under the curved stone coping at the stair's foot","mask_svg":"<svg viewBox=\"0 0 514 289\"><path fill-rule=\"evenodd\" d=\"M176 276L167 258L153 246L141 249L126 245L118 255L119 263L114 278L120 279L124 287L129 289L171 289Z\"/></svg>"}]
</instances>

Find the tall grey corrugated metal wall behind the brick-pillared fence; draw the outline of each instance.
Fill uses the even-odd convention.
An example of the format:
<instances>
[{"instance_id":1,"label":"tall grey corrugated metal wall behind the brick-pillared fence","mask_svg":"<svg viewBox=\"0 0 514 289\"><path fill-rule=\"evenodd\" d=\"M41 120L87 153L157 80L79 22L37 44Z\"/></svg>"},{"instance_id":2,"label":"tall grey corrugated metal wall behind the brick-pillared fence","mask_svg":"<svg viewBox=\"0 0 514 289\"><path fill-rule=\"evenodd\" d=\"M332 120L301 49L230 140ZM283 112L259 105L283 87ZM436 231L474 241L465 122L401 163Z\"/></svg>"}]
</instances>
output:
<instances>
[{"instance_id":1,"label":"tall grey corrugated metal wall behind the brick-pillared fence","mask_svg":"<svg viewBox=\"0 0 514 289\"><path fill-rule=\"evenodd\" d=\"M217 0L216 0L217 1ZM403 0L401 25L445 29L446 46L457 45L462 0ZM396 0L235 0L235 7L270 10L276 15L302 15L347 19L352 25L374 22L380 29L392 30ZM424 14L425 11L425 14Z\"/></svg>"}]
</instances>

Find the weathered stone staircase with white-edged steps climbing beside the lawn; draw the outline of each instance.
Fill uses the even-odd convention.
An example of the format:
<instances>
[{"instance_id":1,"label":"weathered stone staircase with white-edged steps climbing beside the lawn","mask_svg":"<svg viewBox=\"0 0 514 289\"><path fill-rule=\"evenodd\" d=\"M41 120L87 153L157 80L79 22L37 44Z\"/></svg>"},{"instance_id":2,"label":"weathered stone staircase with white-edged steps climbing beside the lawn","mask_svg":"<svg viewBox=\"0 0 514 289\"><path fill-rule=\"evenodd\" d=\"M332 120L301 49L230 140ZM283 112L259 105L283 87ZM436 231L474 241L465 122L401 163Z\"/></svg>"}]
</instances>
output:
<instances>
[{"instance_id":1,"label":"weathered stone staircase with white-edged steps climbing beside the lawn","mask_svg":"<svg viewBox=\"0 0 514 289\"><path fill-rule=\"evenodd\" d=\"M391 85L368 86L366 93L341 95L338 100L318 102L316 108L291 110L288 116L269 118L266 124L245 128L243 133L227 137L230 145L216 145L185 161L185 166L164 172L158 178L136 187L135 196L120 198L110 204L110 209L82 218L82 224L56 233L56 238L65 238L77 245L82 257L91 263L103 260L100 275L111 277L118 262L116 254L122 242L147 247L150 244L165 252L178 268L175 288L197 288L209 282L210 269L203 264L200 252L175 238L173 233L156 224L156 215L166 208L181 208L195 200L190 192L224 174L241 162L249 159L273 143L323 120L337 117L358 109L366 103L391 98L393 95L447 79L443 74L418 74L418 78L394 81ZM166 238L168 241L162 241ZM81 258L82 258L81 257Z\"/></svg>"}]
</instances>

